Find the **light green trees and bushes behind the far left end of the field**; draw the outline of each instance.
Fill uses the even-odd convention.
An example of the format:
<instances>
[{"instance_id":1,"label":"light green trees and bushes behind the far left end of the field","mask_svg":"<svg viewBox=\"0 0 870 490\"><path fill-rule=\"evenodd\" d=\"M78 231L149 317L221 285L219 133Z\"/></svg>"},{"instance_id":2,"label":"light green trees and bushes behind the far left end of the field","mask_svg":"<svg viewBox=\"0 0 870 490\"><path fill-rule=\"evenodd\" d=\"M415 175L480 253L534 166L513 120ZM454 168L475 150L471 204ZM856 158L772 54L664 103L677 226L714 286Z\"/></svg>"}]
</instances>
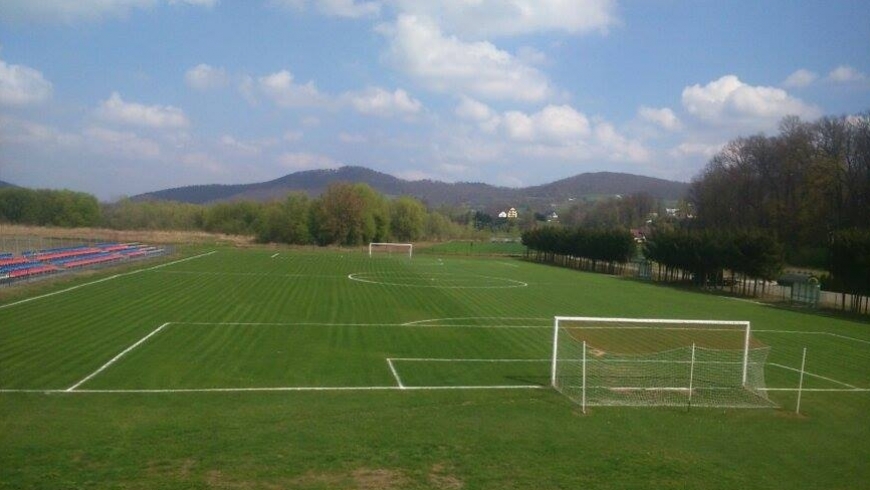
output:
<instances>
[{"instance_id":1,"label":"light green trees and bushes behind the far left end of the field","mask_svg":"<svg viewBox=\"0 0 870 490\"><path fill-rule=\"evenodd\" d=\"M116 230L207 231L260 242L361 245L372 241L466 238L473 234L411 197L388 199L366 184L331 185L320 197L211 205L122 199L100 204L86 193L0 189L0 222Z\"/></svg>"}]
</instances>

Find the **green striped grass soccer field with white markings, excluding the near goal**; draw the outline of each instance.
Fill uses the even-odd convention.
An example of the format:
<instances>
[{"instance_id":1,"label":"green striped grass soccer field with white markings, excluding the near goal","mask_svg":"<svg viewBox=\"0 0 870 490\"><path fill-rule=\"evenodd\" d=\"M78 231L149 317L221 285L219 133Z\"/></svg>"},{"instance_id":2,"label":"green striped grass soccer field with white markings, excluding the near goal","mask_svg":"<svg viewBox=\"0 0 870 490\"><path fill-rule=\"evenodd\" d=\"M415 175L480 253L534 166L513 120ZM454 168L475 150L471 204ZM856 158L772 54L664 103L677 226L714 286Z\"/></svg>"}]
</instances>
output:
<instances>
[{"instance_id":1,"label":"green striped grass soccer field with white markings, excluding the near goal","mask_svg":"<svg viewBox=\"0 0 870 490\"><path fill-rule=\"evenodd\" d=\"M555 316L750 321L778 408L582 415ZM0 304L3 488L860 488L868 410L866 322L509 258L221 248Z\"/></svg>"}]
</instances>

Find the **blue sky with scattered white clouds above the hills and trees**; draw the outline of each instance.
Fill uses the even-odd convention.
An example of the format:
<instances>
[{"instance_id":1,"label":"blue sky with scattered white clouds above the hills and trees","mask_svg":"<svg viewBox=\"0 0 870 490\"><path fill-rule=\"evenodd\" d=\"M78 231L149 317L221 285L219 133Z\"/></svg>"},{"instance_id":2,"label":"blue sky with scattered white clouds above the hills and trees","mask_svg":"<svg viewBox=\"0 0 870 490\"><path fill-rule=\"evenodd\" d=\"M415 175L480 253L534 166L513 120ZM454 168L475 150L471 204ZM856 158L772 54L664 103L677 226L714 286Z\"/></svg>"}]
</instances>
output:
<instances>
[{"instance_id":1,"label":"blue sky with scattered white clouds above the hills and trees","mask_svg":"<svg viewBox=\"0 0 870 490\"><path fill-rule=\"evenodd\" d=\"M870 111L866 0L2 0L0 180L104 201L369 167L690 181Z\"/></svg>"}]
</instances>

